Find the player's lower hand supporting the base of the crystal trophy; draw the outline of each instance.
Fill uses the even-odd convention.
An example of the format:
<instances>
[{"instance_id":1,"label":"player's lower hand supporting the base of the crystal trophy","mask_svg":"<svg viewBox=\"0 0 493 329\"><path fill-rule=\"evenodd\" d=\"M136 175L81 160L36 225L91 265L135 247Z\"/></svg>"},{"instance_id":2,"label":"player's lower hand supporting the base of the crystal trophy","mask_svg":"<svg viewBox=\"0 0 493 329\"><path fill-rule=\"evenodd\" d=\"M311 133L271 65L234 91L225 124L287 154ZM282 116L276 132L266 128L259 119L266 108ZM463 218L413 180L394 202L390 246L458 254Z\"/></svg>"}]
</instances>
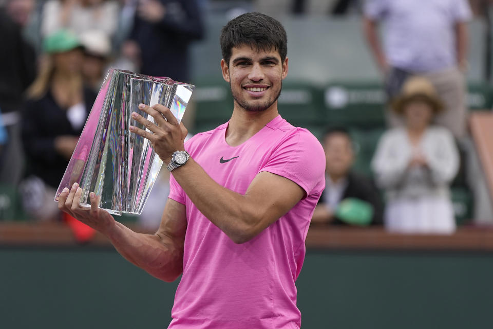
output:
<instances>
[{"instance_id":1,"label":"player's lower hand supporting the base of the crystal trophy","mask_svg":"<svg viewBox=\"0 0 493 329\"><path fill-rule=\"evenodd\" d=\"M111 216L107 211L98 207L99 196L96 196L94 192L89 194L91 199L91 208L81 207L80 200L82 195L82 189L79 184L75 183L72 189L63 189L58 200L58 209L68 213L72 217L77 218L84 224L92 227L93 229L100 231L107 235L110 229L115 225L115 218Z\"/></svg>"}]
</instances>

